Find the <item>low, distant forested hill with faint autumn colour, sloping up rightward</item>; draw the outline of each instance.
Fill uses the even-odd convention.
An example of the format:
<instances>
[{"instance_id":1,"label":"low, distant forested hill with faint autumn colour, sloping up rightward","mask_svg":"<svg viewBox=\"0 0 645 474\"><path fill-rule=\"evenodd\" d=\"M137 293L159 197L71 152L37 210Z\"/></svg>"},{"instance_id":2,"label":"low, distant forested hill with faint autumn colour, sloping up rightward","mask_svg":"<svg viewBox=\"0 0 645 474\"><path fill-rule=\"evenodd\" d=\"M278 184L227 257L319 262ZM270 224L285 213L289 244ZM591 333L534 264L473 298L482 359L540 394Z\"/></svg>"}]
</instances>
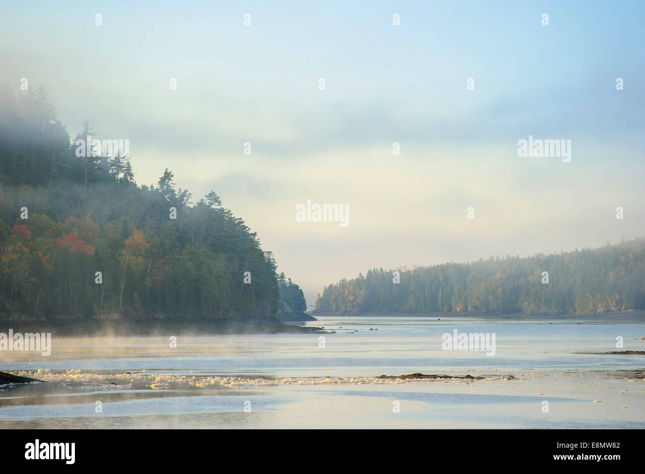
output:
<instances>
[{"instance_id":1,"label":"low, distant forested hill with faint autumn colour, sloping up rightward","mask_svg":"<svg viewBox=\"0 0 645 474\"><path fill-rule=\"evenodd\" d=\"M395 271L400 272L398 284L394 282ZM370 270L366 276L324 288L315 303L317 313L555 315L642 309L645 239L559 255L491 257L413 270Z\"/></svg>"}]
</instances>

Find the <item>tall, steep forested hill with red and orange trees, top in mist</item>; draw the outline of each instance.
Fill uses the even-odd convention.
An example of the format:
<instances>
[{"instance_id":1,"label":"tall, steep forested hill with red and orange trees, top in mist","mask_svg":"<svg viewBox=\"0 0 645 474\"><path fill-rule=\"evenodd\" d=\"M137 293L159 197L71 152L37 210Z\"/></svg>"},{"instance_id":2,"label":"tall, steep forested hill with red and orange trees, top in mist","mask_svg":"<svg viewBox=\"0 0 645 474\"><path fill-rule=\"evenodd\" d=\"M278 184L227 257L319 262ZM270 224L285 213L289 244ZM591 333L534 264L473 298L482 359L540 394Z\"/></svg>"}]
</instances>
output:
<instances>
[{"instance_id":1,"label":"tall, steep forested hill with red and orange trees, top in mist","mask_svg":"<svg viewBox=\"0 0 645 474\"><path fill-rule=\"evenodd\" d=\"M168 169L138 185L115 154L77 157L43 88L0 86L0 318L273 319L297 300L216 193L192 203Z\"/></svg>"}]
</instances>

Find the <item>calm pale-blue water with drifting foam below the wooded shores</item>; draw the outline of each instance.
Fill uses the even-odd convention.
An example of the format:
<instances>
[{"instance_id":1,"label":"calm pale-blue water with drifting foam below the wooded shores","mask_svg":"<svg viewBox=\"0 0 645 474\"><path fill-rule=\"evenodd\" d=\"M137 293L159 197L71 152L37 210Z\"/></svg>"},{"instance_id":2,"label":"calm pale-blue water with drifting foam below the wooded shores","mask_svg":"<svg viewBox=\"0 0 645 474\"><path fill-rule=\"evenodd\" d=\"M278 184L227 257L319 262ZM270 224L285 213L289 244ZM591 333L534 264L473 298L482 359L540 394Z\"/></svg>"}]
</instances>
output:
<instances>
[{"instance_id":1,"label":"calm pale-blue water with drifting foam below the wooded shores","mask_svg":"<svg viewBox=\"0 0 645 474\"><path fill-rule=\"evenodd\" d=\"M54 339L49 357L0 352L0 370L48 380L0 387L0 428L645 428L645 356L584 353L645 350L643 324L307 324L336 333L177 337L177 348L167 336L106 336ZM442 350L455 329L495 333L495 355ZM414 372L485 378L374 379Z\"/></svg>"}]
</instances>

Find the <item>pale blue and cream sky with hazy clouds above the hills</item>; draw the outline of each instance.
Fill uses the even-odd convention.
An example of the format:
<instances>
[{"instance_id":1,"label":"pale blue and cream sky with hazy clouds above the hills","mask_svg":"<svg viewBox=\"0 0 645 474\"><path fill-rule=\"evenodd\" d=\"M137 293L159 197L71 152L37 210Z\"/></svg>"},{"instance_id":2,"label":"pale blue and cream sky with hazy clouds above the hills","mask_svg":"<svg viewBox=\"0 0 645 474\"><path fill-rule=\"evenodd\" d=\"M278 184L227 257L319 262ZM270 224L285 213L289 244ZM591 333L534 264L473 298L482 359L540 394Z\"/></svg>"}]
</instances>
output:
<instances>
[{"instance_id":1,"label":"pale blue and cream sky with hazy clouds above the hills","mask_svg":"<svg viewBox=\"0 0 645 474\"><path fill-rule=\"evenodd\" d=\"M0 7L1 82L43 84L72 137L128 139L137 183L214 190L308 304L370 268L645 235L641 1ZM571 161L519 157L529 135ZM308 200L348 226L296 221Z\"/></svg>"}]
</instances>

